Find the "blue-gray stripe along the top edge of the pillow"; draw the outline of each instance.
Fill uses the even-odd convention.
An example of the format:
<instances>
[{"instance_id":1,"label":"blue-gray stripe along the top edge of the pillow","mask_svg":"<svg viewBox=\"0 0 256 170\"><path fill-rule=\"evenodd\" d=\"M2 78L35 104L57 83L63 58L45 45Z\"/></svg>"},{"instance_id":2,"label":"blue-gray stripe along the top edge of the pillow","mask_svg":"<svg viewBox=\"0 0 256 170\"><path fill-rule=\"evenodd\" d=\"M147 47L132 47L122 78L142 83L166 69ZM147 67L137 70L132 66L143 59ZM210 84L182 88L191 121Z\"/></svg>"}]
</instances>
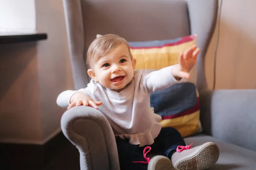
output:
<instances>
[{"instance_id":1,"label":"blue-gray stripe along the top edge of the pillow","mask_svg":"<svg viewBox=\"0 0 256 170\"><path fill-rule=\"evenodd\" d=\"M181 38L176 38L173 40L155 40L155 41L141 41L141 42L128 42L131 47L154 47L162 46L169 43L174 43L180 41Z\"/></svg>"}]
</instances>

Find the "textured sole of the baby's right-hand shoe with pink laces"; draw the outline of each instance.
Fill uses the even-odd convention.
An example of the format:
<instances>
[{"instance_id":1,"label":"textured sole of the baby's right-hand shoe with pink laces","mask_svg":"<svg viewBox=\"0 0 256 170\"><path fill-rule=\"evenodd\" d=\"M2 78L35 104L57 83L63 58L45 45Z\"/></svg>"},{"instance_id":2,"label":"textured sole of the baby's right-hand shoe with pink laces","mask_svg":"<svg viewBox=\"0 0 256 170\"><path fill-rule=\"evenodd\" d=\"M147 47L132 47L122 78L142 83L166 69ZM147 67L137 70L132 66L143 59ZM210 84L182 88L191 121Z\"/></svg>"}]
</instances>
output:
<instances>
[{"instance_id":1,"label":"textured sole of the baby's right-hand shoe with pink laces","mask_svg":"<svg viewBox=\"0 0 256 170\"><path fill-rule=\"evenodd\" d=\"M176 164L178 170L205 170L211 167L218 161L219 149L215 143L207 142L198 150L198 153L191 154L194 156Z\"/></svg>"}]
</instances>

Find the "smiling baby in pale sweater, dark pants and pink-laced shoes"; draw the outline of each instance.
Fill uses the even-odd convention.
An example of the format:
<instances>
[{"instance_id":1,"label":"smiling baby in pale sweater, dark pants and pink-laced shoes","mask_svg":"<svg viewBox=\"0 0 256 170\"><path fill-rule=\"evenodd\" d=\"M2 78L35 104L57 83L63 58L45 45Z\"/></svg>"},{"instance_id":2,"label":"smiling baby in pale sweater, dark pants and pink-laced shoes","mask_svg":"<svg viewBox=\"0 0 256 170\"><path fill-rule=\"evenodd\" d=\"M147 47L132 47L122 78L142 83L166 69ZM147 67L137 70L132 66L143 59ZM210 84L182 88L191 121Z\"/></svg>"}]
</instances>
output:
<instances>
[{"instance_id":1,"label":"smiling baby in pale sweater, dark pants and pink-laced shoes","mask_svg":"<svg viewBox=\"0 0 256 170\"><path fill-rule=\"evenodd\" d=\"M162 128L161 116L150 107L150 94L170 87L196 63L196 45L179 56L179 64L144 74L135 70L128 42L113 34L94 40L87 52L86 88L64 91L57 99L61 107L91 106L108 119L116 136L121 170L202 170L218 160L218 146L207 142L190 148L172 127ZM146 154L160 153L151 159Z\"/></svg>"}]
</instances>

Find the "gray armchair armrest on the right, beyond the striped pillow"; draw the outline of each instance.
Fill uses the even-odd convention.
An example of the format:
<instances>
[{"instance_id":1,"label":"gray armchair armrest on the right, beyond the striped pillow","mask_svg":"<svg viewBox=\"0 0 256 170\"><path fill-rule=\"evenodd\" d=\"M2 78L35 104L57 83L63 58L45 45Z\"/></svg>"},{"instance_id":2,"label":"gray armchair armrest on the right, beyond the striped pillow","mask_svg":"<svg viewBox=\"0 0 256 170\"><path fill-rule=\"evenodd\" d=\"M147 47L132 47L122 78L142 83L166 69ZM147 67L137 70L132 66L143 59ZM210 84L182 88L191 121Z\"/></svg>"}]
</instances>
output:
<instances>
[{"instance_id":1,"label":"gray armchair armrest on the right, beyond the striped pillow","mask_svg":"<svg viewBox=\"0 0 256 170\"><path fill-rule=\"evenodd\" d=\"M200 93L203 132L256 151L256 89Z\"/></svg>"}]
</instances>

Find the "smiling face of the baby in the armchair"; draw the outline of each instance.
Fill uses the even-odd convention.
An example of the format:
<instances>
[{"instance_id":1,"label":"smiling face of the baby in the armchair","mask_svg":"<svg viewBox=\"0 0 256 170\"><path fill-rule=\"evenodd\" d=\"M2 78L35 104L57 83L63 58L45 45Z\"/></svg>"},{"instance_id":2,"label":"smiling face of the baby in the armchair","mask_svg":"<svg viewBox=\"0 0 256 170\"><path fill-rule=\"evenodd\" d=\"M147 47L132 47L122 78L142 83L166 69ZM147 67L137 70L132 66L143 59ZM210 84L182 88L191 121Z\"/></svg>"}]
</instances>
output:
<instances>
[{"instance_id":1,"label":"smiling face of the baby in the armchair","mask_svg":"<svg viewBox=\"0 0 256 170\"><path fill-rule=\"evenodd\" d=\"M131 59L128 47L121 44L101 57L93 66L99 83L113 91L122 91L133 79L136 60Z\"/></svg>"}]
</instances>

